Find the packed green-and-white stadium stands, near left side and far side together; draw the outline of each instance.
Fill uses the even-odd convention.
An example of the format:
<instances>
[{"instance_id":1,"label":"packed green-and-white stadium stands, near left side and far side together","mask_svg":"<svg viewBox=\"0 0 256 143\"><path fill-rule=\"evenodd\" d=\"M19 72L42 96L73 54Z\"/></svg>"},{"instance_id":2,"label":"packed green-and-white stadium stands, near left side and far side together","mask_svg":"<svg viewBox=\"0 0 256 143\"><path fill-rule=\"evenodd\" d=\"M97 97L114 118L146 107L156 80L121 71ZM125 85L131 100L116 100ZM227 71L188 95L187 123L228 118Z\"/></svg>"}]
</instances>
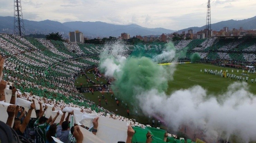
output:
<instances>
[{"instance_id":1,"label":"packed green-and-white stadium stands, near left side and far side together","mask_svg":"<svg viewBox=\"0 0 256 143\"><path fill-rule=\"evenodd\" d=\"M174 45L177 51L187 47L187 57L196 52L199 53L202 60L232 60L255 63L255 43L255 38L213 38L208 40L181 40ZM164 50L164 45L164 43L159 42L132 45L129 48L135 54L143 51L148 57L153 57ZM2 80L0 84L0 87L3 87L1 90L4 90L4 94L0 93L1 99L3 97L6 99L6 102L0 101L2 105L0 108L1 114L3 113L0 121L6 123L12 118L6 124L10 126L14 124L13 129L31 142L41 142L38 140L43 140L42 142L52 141L52 138L46 135L49 130L47 130L48 125L49 128L57 128L56 137L65 142L66 139L62 136L63 134L58 135L58 132L68 126L68 122L64 121L66 118L67 121L71 121L70 127L74 124L84 125L84 128L73 127L72 132L68 130L65 133L67 142L80 141L81 136L83 142L85 140L90 140L92 143L125 142L129 135L134 135L132 142L146 142L146 140L150 140L150 135L148 136L148 132L150 132L150 134L154 134L153 140L159 143L184 143L184 139L178 139L176 135L167 134L165 130L140 124L134 119L128 119L104 109L84 98L76 89L74 85L76 77L81 73L86 76L85 70L92 69L99 64L99 54L102 50L103 45L50 41L0 34L0 54L4 57L3 69L0 74L2 72L2 78L7 81ZM104 77L102 78L104 79ZM88 77L88 81L90 80ZM7 83L9 85L6 85ZM15 90L11 90L10 86L15 86ZM16 102L13 102L12 96L7 96L9 94L15 97ZM24 109L17 108L15 110L12 104L24 107ZM37 113L31 109L37 110ZM27 115L24 115L24 110L28 112ZM15 111L19 111L19 116L15 114L15 117L20 117L20 119L16 118L13 122ZM30 120L33 122L32 125L29 125L28 122L30 117L31 119L35 118L35 120L33 119L34 122ZM37 120L38 118L39 120ZM22 130L20 127L16 128L20 120L23 121L21 126L25 125L24 129L21 127ZM37 123L34 125L35 122ZM57 127L54 127L54 123L60 123L60 125L57 124ZM66 124L66 126L63 124ZM85 129L85 126L88 129ZM38 129L43 131L38 132L36 139L33 139L32 136ZM135 131L136 134L134 134ZM186 143L192 142L192 140L186 139Z\"/></svg>"}]
</instances>

